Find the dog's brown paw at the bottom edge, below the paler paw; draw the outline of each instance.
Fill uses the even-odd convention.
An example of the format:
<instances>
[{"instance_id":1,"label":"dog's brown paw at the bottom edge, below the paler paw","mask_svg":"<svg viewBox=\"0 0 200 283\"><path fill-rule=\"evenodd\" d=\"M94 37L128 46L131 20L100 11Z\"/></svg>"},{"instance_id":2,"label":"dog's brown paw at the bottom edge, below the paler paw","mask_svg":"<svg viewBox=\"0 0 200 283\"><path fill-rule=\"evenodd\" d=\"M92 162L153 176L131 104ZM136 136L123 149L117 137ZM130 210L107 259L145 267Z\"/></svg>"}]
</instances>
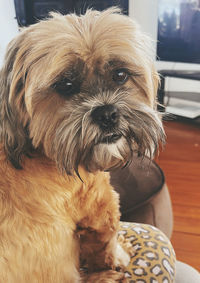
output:
<instances>
[{"instance_id":1,"label":"dog's brown paw at the bottom edge, below the paler paw","mask_svg":"<svg viewBox=\"0 0 200 283\"><path fill-rule=\"evenodd\" d=\"M102 272L96 272L89 274L85 281L87 283L126 283L128 282L124 276L124 273L117 272L115 270L106 270Z\"/></svg>"}]
</instances>

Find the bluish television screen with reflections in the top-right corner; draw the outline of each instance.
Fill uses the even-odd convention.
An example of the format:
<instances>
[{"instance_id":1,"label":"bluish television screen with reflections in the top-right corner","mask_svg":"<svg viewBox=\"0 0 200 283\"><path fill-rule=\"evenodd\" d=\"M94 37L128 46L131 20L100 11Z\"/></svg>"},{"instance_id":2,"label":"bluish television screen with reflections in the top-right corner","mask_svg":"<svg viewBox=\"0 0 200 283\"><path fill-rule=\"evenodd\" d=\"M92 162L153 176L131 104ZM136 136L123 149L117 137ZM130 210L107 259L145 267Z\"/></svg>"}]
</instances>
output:
<instances>
[{"instance_id":1,"label":"bluish television screen with reflections in the top-right corner","mask_svg":"<svg viewBox=\"0 0 200 283\"><path fill-rule=\"evenodd\" d=\"M157 56L200 63L200 0L159 0Z\"/></svg>"}]
</instances>

